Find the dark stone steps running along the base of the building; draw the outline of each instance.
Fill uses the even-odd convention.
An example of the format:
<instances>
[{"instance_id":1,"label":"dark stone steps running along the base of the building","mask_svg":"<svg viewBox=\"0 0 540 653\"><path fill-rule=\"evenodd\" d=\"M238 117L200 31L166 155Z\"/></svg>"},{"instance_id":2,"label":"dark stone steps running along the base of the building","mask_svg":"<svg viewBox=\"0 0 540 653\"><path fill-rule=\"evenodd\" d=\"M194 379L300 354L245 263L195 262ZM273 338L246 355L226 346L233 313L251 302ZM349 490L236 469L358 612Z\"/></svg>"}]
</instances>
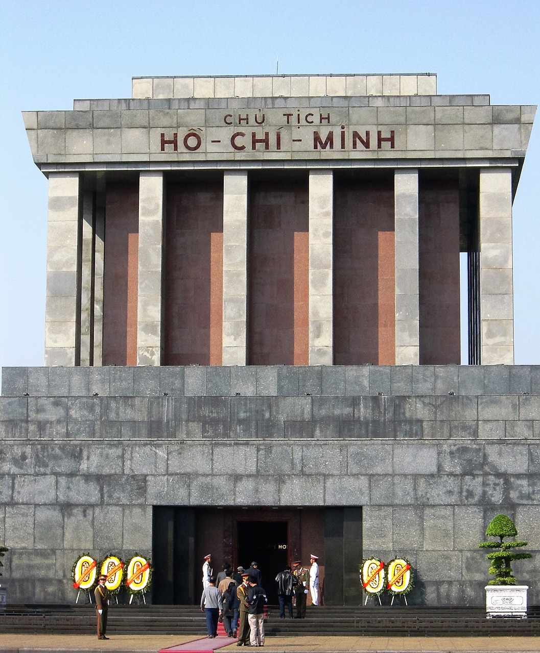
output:
<instances>
[{"instance_id":1,"label":"dark stone steps running along the base of the building","mask_svg":"<svg viewBox=\"0 0 540 653\"><path fill-rule=\"evenodd\" d=\"M205 618L194 605L112 605L108 632L122 634L205 635ZM93 633L90 605L12 605L0 612L0 633ZM267 635L496 636L540 635L540 609L527 619L486 619L480 608L424 606L309 607L305 619L280 619L270 606Z\"/></svg>"}]
</instances>

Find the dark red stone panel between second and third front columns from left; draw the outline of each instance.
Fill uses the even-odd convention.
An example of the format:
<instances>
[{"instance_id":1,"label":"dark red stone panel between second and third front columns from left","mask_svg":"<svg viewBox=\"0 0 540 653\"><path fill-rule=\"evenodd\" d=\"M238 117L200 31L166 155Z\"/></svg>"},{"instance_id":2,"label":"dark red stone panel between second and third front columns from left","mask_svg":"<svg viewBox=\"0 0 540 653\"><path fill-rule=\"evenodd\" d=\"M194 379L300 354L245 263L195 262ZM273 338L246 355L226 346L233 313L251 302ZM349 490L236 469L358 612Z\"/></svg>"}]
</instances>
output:
<instances>
[{"instance_id":1,"label":"dark red stone panel between second and third front columns from left","mask_svg":"<svg viewBox=\"0 0 540 653\"><path fill-rule=\"evenodd\" d=\"M221 365L223 182L167 183L165 365Z\"/></svg>"}]
</instances>

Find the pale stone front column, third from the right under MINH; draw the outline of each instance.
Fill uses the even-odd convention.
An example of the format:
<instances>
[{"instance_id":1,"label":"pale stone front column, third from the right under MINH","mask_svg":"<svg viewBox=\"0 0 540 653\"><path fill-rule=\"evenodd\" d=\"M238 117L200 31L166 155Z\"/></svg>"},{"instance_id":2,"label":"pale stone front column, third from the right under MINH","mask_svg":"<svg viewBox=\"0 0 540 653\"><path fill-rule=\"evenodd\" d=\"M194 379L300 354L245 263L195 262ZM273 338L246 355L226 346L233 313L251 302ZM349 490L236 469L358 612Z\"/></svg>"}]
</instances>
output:
<instances>
[{"instance_id":1,"label":"pale stone front column, third from the right under MINH","mask_svg":"<svg viewBox=\"0 0 540 653\"><path fill-rule=\"evenodd\" d=\"M309 364L333 364L333 173L309 171Z\"/></svg>"}]
</instances>

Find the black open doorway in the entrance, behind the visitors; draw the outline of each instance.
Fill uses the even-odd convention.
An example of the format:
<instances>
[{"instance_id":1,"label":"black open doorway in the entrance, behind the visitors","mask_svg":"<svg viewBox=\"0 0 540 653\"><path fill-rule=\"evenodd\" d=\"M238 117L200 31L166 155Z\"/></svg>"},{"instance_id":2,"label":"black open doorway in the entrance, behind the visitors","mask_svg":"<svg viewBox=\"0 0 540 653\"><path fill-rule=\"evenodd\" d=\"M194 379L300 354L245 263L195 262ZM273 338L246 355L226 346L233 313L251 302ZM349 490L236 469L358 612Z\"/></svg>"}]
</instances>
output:
<instances>
[{"instance_id":1,"label":"black open doorway in the entrance, behind the visitors","mask_svg":"<svg viewBox=\"0 0 540 653\"><path fill-rule=\"evenodd\" d=\"M252 561L258 562L268 602L277 605L275 577L289 564L288 522L238 521L237 556L246 569Z\"/></svg>"}]
</instances>

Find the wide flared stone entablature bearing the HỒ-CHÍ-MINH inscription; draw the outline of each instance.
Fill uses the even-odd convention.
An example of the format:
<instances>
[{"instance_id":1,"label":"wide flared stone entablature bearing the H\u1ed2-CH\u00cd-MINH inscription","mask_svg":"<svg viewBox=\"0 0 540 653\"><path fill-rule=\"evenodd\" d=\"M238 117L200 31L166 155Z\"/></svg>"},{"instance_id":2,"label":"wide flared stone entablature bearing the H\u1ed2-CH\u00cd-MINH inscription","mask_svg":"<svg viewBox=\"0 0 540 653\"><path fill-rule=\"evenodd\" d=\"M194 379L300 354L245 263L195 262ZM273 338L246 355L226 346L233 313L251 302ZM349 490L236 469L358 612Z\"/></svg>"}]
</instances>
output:
<instances>
[{"instance_id":1,"label":"wide flared stone entablature bearing the H\u1ed2-CH\u00cd-MINH inscription","mask_svg":"<svg viewBox=\"0 0 540 653\"><path fill-rule=\"evenodd\" d=\"M347 97L341 106L305 97L279 107L271 98L232 100L216 108L165 108L163 101L149 100L145 108L24 112L24 121L34 161L44 171L58 170L55 164L78 170L78 164L98 169L137 161L158 168L160 162L165 168L189 162L223 167L227 161L237 166L261 160L293 166L331 161L333 167L379 161L395 167L400 159L418 166L448 159L486 165L492 158L518 165L535 114L533 106L460 104L462 96L455 96L456 104L450 96L447 106L358 106ZM124 101L107 102L110 107ZM192 101L197 103L209 101Z\"/></svg>"}]
</instances>

